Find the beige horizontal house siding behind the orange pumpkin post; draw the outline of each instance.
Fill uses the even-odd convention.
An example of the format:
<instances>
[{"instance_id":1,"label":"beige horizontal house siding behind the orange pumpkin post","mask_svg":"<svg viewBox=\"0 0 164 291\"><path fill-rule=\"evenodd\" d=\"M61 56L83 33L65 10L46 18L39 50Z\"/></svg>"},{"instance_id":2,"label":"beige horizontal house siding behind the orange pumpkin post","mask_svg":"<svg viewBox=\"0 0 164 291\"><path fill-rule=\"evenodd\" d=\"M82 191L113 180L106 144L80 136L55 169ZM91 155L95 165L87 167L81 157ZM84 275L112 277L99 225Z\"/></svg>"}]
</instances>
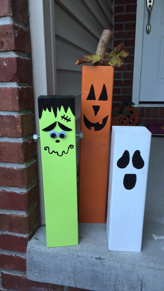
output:
<instances>
[{"instance_id":1,"label":"beige horizontal house siding behind the orange pumpkin post","mask_svg":"<svg viewBox=\"0 0 164 291\"><path fill-rule=\"evenodd\" d=\"M80 130L82 65L84 54L96 52L103 29L113 29L112 0L54 0L57 94L74 95L76 132ZM112 41L109 51L112 49ZM77 141L78 142L78 141ZM77 143L77 164L79 142Z\"/></svg>"}]
</instances>

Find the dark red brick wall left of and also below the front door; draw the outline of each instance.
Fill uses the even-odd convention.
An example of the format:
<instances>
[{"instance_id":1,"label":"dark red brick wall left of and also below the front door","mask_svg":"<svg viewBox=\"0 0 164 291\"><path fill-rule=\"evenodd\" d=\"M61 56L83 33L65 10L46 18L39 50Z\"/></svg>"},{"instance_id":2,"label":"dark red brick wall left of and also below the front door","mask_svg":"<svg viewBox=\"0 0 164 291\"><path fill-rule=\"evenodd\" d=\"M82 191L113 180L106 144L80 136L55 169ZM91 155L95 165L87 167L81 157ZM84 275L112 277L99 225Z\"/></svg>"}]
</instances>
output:
<instances>
[{"instance_id":1,"label":"dark red brick wall left of and also below the front door","mask_svg":"<svg viewBox=\"0 0 164 291\"><path fill-rule=\"evenodd\" d=\"M114 69L113 108L122 101L132 100L133 65L135 47L136 0L115 0L114 47L123 42L130 54L124 64ZM164 124L163 107L138 107L139 125Z\"/></svg>"}]
</instances>

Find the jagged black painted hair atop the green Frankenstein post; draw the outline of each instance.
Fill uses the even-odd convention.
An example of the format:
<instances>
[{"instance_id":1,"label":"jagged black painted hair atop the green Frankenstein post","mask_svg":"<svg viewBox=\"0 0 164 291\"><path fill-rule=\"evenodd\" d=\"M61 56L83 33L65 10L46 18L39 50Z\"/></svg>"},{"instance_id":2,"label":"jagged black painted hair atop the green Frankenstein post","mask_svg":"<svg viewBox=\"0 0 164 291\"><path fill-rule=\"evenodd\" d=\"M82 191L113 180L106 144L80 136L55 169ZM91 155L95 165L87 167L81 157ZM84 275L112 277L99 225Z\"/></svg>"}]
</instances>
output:
<instances>
[{"instance_id":1,"label":"jagged black painted hair atop the green Frankenstein post","mask_svg":"<svg viewBox=\"0 0 164 291\"><path fill-rule=\"evenodd\" d=\"M70 108L72 114L75 116L75 97L73 95L42 95L38 97L38 110L39 119L42 117L43 110L54 112L55 118L57 117L57 109L64 107L64 111L67 112L68 107Z\"/></svg>"}]
</instances>

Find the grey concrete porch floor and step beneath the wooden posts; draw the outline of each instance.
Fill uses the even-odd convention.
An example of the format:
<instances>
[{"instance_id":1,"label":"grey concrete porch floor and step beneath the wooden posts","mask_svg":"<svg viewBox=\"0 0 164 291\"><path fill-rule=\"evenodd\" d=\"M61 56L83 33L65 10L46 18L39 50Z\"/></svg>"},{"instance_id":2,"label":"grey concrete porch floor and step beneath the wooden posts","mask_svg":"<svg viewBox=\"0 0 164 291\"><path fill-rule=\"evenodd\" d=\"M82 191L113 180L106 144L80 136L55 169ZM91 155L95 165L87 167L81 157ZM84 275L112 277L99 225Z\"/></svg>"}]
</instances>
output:
<instances>
[{"instance_id":1,"label":"grey concrete porch floor and step beneath the wooden posts","mask_svg":"<svg viewBox=\"0 0 164 291\"><path fill-rule=\"evenodd\" d=\"M142 251L107 248L106 224L79 223L79 245L47 248L45 226L27 247L33 281L94 291L164 290L164 139L151 138Z\"/></svg>"}]
</instances>

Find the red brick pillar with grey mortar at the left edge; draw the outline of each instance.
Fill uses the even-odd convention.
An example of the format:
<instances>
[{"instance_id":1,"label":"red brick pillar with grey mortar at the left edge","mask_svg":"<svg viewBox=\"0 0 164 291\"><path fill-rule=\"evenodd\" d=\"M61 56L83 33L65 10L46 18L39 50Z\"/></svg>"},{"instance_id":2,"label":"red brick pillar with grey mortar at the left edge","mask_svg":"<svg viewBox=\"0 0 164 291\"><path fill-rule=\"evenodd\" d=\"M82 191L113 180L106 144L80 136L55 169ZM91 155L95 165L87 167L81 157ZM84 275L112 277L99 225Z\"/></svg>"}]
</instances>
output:
<instances>
[{"instance_id":1,"label":"red brick pillar with grey mortar at the left edge","mask_svg":"<svg viewBox=\"0 0 164 291\"><path fill-rule=\"evenodd\" d=\"M1 0L0 290L15 272L25 275L27 242L39 225L30 52L27 1Z\"/></svg>"}]
</instances>

